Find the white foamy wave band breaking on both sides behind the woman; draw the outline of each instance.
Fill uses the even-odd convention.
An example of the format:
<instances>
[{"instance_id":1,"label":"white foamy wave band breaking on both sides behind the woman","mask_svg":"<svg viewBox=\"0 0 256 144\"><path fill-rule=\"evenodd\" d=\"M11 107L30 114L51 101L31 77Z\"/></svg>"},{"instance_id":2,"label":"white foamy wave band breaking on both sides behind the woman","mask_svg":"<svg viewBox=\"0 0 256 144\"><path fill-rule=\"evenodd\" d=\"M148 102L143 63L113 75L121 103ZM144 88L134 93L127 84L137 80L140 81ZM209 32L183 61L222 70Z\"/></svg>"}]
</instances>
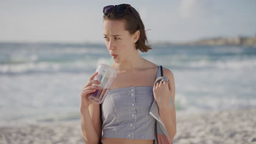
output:
<instances>
[{"instance_id":1,"label":"white foamy wave band breaking on both sides behind the woman","mask_svg":"<svg viewBox=\"0 0 256 144\"><path fill-rule=\"evenodd\" d=\"M38 62L36 55L31 59L34 61L10 61L0 64L0 74L22 74L22 73L78 73L86 69L96 68L100 63L109 63L110 57L102 57L99 59L86 58L84 61L72 61L65 59L48 59L48 61ZM147 57L156 59L156 57ZM256 69L256 58L251 59L228 59L208 61L207 58L175 59L167 61L167 57L156 60L156 63L170 69ZM165 61L166 60L166 61Z\"/></svg>"}]
</instances>

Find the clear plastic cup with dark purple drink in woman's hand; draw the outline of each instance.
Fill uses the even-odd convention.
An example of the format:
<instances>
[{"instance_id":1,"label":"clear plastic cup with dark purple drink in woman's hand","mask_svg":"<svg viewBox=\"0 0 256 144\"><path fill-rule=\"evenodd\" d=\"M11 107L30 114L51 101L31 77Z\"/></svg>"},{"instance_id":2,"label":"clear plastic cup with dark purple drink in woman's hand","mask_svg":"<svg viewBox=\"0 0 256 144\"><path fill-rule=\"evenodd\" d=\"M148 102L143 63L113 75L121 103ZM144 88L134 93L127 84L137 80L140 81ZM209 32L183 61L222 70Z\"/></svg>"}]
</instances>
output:
<instances>
[{"instance_id":1,"label":"clear plastic cup with dark purple drink in woman's hand","mask_svg":"<svg viewBox=\"0 0 256 144\"><path fill-rule=\"evenodd\" d=\"M95 104L101 104L106 92L108 91L108 88L110 87L114 78L117 77L117 71L109 65L103 63L97 66L96 71L98 71L98 74L94 77L94 80L101 81L101 84L97 85L95 83L92 83L92 85L100 86L101 88L96 89L94 93L91 93L89 95L89 100ZM105 77L102 81L104 74Z\"/></svg>"}]
</instances>

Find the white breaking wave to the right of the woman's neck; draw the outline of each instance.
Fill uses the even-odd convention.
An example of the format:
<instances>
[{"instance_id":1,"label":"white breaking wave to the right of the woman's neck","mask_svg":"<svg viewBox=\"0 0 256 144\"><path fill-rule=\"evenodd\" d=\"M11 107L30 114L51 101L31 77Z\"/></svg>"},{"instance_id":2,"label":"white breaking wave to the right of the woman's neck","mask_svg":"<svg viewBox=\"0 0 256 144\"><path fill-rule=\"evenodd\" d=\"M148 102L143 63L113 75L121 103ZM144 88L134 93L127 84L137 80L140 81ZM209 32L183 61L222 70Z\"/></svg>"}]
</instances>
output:
<instances>
[{"instance_id":1,"label":"white breaking wave to the right of the woman's neck","mask_svg":"<svg viewBox=\"0 0 256 144\"><path fill-rule=\"evenodd\" d=\"M256 57L230 57L212 58L208 56L170 56L164 55L161 58L146 56L149 61L155 61L159 65L171 69L255 69Z\"/></svg>"}]
</instances>

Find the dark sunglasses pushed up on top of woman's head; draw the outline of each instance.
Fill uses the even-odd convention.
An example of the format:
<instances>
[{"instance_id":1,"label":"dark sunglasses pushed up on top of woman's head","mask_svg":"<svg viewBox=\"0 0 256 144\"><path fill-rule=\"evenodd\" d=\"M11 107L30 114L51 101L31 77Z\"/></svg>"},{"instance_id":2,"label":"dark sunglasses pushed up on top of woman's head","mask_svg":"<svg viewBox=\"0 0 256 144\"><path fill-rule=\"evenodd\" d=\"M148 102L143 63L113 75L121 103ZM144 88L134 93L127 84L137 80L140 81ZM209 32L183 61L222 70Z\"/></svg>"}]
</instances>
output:
<instances>
[{"instance_id":1,"label":"dark sunglasses pushed up on top of woman's head","mask_svg":"<svg viewBox=\"0 0 256 144\"><path fill-rule=\"evenodd\" d=\"M124 11L126 11L129 7L131 7L130 4L108 5L103 8L103 14L107 15L111 13L114 9L116 9L117 13L124 13ZM132 12L132 9L131 9L131 12Z\"/></svg>"}]
</instances>

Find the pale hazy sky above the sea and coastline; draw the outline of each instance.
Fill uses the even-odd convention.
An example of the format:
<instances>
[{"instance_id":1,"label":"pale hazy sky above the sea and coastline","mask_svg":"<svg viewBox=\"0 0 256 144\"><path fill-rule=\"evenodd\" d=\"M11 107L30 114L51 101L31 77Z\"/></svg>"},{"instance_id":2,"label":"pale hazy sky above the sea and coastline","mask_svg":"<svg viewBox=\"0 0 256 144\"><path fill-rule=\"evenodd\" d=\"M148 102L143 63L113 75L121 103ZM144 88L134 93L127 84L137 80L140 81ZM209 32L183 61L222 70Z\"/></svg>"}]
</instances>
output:
<instances>
[{"instance_id":1,"label":"pale hazy sky above the sea and coastline","mask_svg":"<svg viewBox=\"0 0 256 144\"><path fill-rule=\"evenodd\" d=\"M104 43L102 8L131 4L149 42L256 35L254 0L0 0L0 41Z\"/></svg>"}]
</instances>

